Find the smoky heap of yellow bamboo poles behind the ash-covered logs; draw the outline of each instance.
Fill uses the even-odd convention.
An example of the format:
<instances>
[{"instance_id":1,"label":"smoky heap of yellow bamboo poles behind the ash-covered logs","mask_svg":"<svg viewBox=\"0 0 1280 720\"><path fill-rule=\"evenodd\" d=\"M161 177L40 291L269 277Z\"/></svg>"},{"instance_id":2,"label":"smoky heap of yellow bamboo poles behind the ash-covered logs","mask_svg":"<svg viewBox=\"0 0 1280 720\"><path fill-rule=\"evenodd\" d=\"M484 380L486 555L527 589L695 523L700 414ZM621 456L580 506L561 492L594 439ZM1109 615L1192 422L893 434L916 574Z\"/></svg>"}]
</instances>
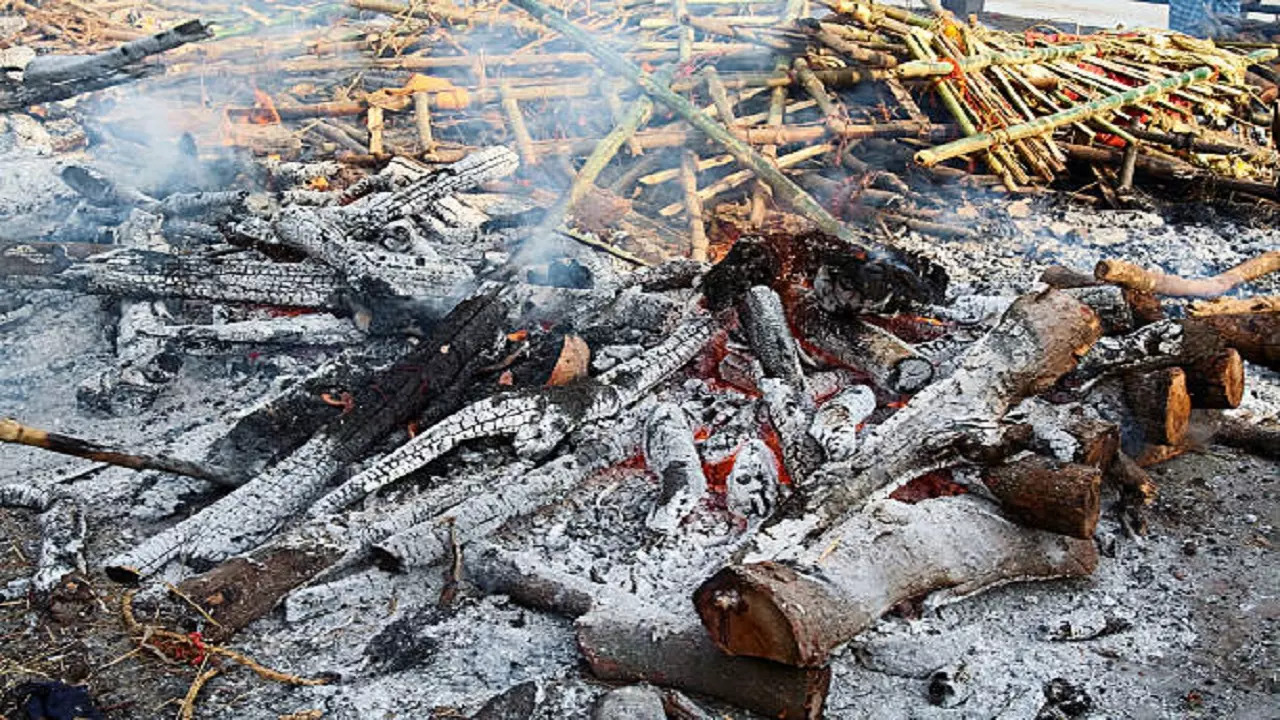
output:
<instances>
[{"instance_id":1,"label":"smoky heap of yellow bamboo poles behind the ash-covered logs","mask_svg":"<svg viewBox=\"0 0 1280 720\"><path fill-rule=\"evenodd\" d=\"M1274 47L820 3L210 6L219 37L172 53L143 87L183 109L206 152L376 165L509 143L552 206L544 225L622 225L657 255L714 256L709 218L759 225L773 205L851 241L836 215L963 234L932 222L936 183L956 178L1007 192L1061 181L1111 204L1135 176L1280 199Z\"/></svg>"}]
</instances>

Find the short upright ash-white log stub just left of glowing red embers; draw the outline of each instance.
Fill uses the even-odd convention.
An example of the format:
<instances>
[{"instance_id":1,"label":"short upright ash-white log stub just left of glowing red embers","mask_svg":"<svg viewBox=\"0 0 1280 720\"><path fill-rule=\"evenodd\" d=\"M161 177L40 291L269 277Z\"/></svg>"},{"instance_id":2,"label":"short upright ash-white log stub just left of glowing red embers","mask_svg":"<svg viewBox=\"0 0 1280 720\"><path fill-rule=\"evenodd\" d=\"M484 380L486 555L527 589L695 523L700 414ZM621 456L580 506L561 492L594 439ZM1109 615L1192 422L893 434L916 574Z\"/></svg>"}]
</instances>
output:
<instances>
[{"instance_id":1,"label":"short upright ash-white log stub just left of glowing red embers","mask_svg":"<svg viewBox=\"0 0 1280 720\"><path fill-rule=\"evenodd\" d=\"M678 405L657 405L644 429L644 459L660 486L645 525L671 534L707 495L707 475L694 447L694 430Z\"/></svg>"}]
</instances>

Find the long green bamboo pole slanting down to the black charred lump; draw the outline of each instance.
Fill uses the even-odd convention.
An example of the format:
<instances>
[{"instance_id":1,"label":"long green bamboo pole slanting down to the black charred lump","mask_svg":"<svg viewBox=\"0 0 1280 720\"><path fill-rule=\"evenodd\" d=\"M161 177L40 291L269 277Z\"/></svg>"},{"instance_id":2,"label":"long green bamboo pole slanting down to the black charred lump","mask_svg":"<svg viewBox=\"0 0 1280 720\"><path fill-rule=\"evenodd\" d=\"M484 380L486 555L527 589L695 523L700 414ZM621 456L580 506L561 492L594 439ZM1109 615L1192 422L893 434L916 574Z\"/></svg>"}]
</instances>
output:
<instances>
[{"instance_id":1,"label":"long green bamboo pole slanting down to the black charred lump","mask_svg":"<svg viewBox=\"0 0 1280 720\"><path fill-rule=\"evenodd\" d=\"M818 201L815 201L808 192L792 182L791 178L782 174L781 170L769 164L768 160L753 150L750 145L742 142L730 133L723 126L700 113L698 108L689 102L689 100L685 100L680 95L672 92L666 85L657 82L653 76L645 73L618 53L604 47L576 24L553 13L538 0L511 0L511 4L521 8L538 20L547 24L547 27L582 46L584 50L595 55L595 58L611 70L640 86L646 95L675 110L676 114L685 119L685 122L701 131L707 137L722 145L724 150L733 155L739 163L750 168L751 172L755 173L755 177L760 178L773 188L773 193L777 200L812 220L823 232L836 236L854 246L854 250L859 256L865 258L868 255L868 250L863 245L864 238L836 219L835 215L828 213L826 208L818 204Z\"/></svg>"}]
</instances>

